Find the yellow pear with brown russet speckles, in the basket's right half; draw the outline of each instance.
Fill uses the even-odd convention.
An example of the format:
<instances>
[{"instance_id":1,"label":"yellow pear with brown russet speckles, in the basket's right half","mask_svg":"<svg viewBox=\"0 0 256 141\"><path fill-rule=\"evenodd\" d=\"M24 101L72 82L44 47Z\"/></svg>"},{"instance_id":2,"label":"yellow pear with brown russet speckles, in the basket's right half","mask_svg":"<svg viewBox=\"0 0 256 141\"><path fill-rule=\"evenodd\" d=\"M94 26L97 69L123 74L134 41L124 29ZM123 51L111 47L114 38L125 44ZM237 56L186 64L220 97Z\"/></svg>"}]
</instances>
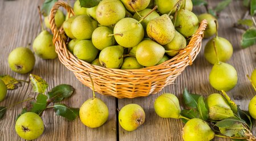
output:
<instances>
[{"instance_id":1,"label":"yellow pear with brown russet speckles, in the basket's right half","mask_svg":"<svg viewBox=\"0 0 256 141\"><path fill-rule=\"evenodd\" d=\"M147 25L148 36L160 45L166 45L173 40L175 29L167 14L152 19Z\"/></svg>"}]
</instances>

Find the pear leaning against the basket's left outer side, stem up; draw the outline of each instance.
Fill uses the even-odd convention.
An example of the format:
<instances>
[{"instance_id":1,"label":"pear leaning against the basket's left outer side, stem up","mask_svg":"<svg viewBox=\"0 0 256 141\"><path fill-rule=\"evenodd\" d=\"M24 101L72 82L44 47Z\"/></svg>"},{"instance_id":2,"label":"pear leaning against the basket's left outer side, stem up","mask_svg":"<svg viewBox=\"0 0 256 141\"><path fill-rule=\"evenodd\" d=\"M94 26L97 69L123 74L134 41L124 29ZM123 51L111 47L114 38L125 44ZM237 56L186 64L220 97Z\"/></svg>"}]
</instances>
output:
<instances>
[{"instance_id":1,"label":"pear leaning against the basket's left outer side, stem up","mask_svg":"<svg viewBox=\"0 0 256 141\"><path fill-rule=\"evenodd\" d=\"M43 59L55 59L58 57L52 39L53 36L50 32L46 30L42 31L33 42L33 50L35 54Z\"/></svg>"}]
</instances>

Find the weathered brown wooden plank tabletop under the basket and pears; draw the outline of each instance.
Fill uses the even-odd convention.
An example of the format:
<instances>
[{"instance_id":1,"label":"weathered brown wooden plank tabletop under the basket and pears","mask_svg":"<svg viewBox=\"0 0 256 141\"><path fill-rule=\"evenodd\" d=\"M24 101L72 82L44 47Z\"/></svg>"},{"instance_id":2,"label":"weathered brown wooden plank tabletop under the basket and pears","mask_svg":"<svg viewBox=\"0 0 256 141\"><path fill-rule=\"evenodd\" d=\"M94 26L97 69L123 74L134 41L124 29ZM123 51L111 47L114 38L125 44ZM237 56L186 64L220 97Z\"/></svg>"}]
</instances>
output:
<instances>
[{"instance_id":1,"label":"weathered brown wooden plank tabletop under the basket and pears","mask_svg":"<svg viewBox=\"0 0 256 141\"><path fill-rule=\"evenodd\" d=\"M220 1L209 1L210 6L216 6ZM9 74L17 79L29 80L29 74L21 75L10 70L7 57L14 48L18 46L27 46L32 44L36 35L40 32L39 17L37 6L42 5L43 0L0 0L0 75ZM204 7L194 7L197 14L205 12ZM251 74L256 68L256 46L247 49L241 49L239 46L242 31L233 28L233 24L242 17L246 9L243 8L241 1L233 1L229 7L221 12L219 36L225 37L233 44L234 54L228 61L237 69L238 84L227 94L235 99L241 109L247 110L250 99L255 95L251 88L246 74ZM204 40L203 46L207 40ZM29 45L32 49L32 46ZM97 129L90 129L80 122L67 121L66 119L55 116L53 109L47 109L42 119L44 121L44 133L36 140L182 140L183 123L179 119L160 118L153 109L153 102L156 97L164 92L174 93L180 100L184 88L192 93L201 95L210 95L218 92L209 84L208 76L212 65L204 58L204 48L198 55L192 66L185 69L184 72L175 81L172 86L165 87L156 95L140 97L136 99L115 99L97 94L109 108L108 121ZM58 84L70 84L75 88L75 93L70 98L63 101L64 104L79 108L84 101L92 97L91 89L83 86L71 71L66 69L58 59L43 60L36 57L34 70L31 74L42 76L48 84L49 89ZM7 97L0 102L0 106L11 105L15 102L25 100L28 97L34 97L30 84L23 83L22 87L14 91L8 91ZM136 103L141 105L146 113L146 120L143 126L136 131L128 132L123 130L117 122L117 108L121 109L124 105ZM15 133L15 118L21 112L20 104L7 109L5 117L0 121L0 140L23 140ZM254 126L254 135L255 126ZM214 140L229 140L215 138Z\"/></svg>"}]
</instances>

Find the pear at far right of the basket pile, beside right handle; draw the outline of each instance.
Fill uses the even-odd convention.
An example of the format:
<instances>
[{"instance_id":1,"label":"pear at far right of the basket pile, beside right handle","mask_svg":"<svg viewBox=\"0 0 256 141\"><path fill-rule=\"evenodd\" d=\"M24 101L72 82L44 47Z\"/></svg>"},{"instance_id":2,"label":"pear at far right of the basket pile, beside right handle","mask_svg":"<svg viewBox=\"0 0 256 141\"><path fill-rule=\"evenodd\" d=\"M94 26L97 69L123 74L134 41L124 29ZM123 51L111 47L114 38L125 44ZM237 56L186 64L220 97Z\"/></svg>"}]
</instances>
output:
<instances>
[{"instance_id":1,"label":"pear at far right of the basket pile, beside right handle","mask_svg":"<svg viewBox=\"0 0 256 141\"><path fill-rule=\"evenodd\" d=\"M196 33L199 26L197 16L193 12L184 9L178 10L174 24L176 30L185 37L190 37Z\"/></svg>"}]
</instances>

